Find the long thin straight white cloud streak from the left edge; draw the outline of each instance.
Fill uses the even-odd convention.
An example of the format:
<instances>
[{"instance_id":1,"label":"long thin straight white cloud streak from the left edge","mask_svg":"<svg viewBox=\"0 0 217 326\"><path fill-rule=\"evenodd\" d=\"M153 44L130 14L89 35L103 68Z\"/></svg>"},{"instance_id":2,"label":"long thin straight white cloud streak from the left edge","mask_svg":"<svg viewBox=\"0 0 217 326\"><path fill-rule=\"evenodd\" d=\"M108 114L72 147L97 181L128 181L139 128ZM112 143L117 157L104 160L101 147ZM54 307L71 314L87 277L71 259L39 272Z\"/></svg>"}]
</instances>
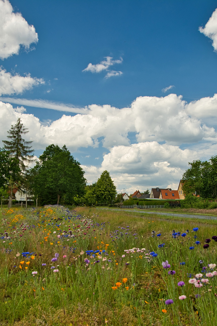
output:
<instances>
[{"instance_id":1,"label":"long thin straight white cloud streak from the left edge","mask_svg":"<svg viewBox=\"0 0 217 326\"><path fill-rule=\"evenodd\" d=\"M60 102L47 101L41 99L28 100L26 98L0 97L0 101L4 103L9 102L13 104L31 106L33 108L44 108L73 113L87 114L89 111L87 108L75 108L72 104L63 104Z\"/></svg>"}]
</instances>

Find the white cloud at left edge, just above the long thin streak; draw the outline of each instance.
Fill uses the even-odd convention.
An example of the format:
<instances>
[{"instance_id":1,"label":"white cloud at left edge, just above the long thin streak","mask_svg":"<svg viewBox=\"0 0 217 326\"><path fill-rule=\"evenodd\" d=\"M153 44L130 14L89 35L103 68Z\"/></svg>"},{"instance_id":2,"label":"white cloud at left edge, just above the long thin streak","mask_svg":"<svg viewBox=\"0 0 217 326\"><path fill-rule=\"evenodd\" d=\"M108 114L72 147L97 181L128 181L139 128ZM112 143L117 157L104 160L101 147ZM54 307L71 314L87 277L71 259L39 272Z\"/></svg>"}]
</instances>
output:
<instances>
[{"instance_id":1,"label":"white cloud at left edge, just above the long thin streak","mask_svg":"<svg viewBox=\"0 0 217 326\"><path fill-rule=\"evenodd\" d=\"M32 78L30 74L24 77L19 74L12 75L10 72L0 67L0 95L22 93L23 91L33 88L33 86L44 83L42 78Z\"/></svg>"}]
</instances>

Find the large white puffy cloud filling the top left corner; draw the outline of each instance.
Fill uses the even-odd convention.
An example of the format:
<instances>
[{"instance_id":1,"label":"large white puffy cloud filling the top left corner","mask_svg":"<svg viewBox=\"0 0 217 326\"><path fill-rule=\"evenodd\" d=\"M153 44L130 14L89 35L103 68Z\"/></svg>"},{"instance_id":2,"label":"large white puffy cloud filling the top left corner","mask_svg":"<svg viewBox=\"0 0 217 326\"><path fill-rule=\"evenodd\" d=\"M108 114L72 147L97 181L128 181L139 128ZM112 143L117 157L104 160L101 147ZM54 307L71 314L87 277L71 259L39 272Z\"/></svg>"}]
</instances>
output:
<instances>
[{"instance_id":1,"label":"large white puffy cloud filling the top left corner","mask_svg":"<svg viewBox=\"0 0 217 326\"><path fill-rule=\"evenodd\" d=\"M8 0L0 0L0 58L2 60L18 54L20 46L30 48L37 43L38 34L33 25L29 25L22 15L13 12Z\"/></svg>"}]
</instances>

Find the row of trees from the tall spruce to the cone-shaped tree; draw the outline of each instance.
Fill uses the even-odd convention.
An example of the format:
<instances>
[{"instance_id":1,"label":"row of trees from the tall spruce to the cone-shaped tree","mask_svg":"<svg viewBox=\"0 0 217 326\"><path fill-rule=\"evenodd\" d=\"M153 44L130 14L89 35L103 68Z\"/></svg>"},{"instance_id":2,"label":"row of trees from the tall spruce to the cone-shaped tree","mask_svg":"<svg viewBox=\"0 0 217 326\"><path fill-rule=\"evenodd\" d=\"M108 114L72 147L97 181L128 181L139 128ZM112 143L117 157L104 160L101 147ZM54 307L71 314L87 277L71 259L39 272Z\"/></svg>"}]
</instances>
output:
<instances>
[{"instance_id":1,"label":"row of trees from the tall spruce to the cone-shaped tree","mask_svg":"<svg viewBox=\"0 0 217 326\"><path fill-rule=\"evenodd\" d=\"M21 194L33 197L40 205L44 204L95 204L110 203L115 199L116 188L108 171L93 185L86 185L84 170L64 145L51 144L34 168L28 165L34 162L32 141L22 137L28 133L20 118L8 131L8 140L0 148L0 197L9 199L11 206L13 189ZM27 204L27 201L26 201Z\"/></svg>"}]
</instances>

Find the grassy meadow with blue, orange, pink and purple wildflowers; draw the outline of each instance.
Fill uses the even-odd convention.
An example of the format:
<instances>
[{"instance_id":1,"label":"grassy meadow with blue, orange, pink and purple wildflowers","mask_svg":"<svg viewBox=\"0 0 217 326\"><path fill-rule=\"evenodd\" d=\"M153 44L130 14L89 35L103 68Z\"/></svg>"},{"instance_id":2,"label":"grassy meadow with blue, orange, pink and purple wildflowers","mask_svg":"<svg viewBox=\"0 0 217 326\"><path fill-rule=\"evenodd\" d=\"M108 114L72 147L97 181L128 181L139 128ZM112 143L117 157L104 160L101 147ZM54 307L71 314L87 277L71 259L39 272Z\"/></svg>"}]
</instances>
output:
<instances>
[{"instance_id":1,"label":"grassy meadow with blue, orange, pink and purple wildflowers","mask_svg":"<svg viewBox=\"0 0 217 326\"><path fill-rule=\"evenodd\" d=\"M3 208L0 325L217 325L215 220Z\"/></svg>"}]
</instances>

